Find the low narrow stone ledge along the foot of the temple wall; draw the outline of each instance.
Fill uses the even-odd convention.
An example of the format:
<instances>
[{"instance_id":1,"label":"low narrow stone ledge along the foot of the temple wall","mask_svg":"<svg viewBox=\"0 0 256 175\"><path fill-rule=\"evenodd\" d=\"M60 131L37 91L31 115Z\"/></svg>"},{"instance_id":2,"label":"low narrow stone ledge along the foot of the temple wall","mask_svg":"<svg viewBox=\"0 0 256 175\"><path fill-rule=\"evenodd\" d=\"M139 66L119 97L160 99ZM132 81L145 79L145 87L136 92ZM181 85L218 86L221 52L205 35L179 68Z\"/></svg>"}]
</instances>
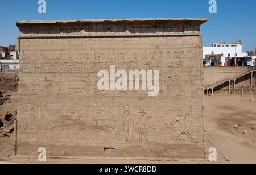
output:
<instances>
[{"instance_id":1,"label":"low narrow stone ledge along the foot of the temple wall","mask_svg":"<svg viewBox=\"0 0 256 175\"><path fill-rule=\"evenodd\" d=\"M46 161L39 161L37 156L11 156L11 161L13 163L19 164L105 164L106 161L110 161L112 163L118 164L127 164L133 163L136 161L136 164L179 164L179 163L210 163L207 159L170 159L170 158L162 158L162 157L152 157L152 158L144 158L144 157L65 157L65 156L49 156L46 158Z\"/></svg>"}]
</instances>

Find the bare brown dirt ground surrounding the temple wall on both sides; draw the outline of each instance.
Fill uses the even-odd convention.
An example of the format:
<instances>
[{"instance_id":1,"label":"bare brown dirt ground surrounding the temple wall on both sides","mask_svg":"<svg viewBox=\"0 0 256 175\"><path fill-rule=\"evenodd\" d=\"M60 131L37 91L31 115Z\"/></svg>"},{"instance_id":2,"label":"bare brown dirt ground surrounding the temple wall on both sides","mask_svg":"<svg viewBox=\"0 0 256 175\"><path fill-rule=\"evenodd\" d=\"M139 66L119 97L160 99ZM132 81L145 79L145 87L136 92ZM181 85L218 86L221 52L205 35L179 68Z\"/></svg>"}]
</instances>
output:
<instances>
[{"instance_id":1,"label":"bare brown dirt ground surrounding the temple wall on both sides","mask_svg":"<svg viewBox=\"0 0 256 175\"><path fill-rule=\"evenodd\" d=\"M5 102L0 105L0 119L5 125L3 131L13 128L16 119L17 82L15 77L18 73L0 73L0 91ZM1 98L0 98L1 99ZM217 149L217 162L212 163L256 163L256 98L251 102L250 96L213 96L205 97L206 106L206 127L207 127L207 149L214 147ZM6 113L13 117L10 121L5 121ZM234 125L238 126L234 128ZM246 130L246 133L243 132ZM2 132L2 133L1 133ZM7 133L6 137L0 136L0 163L11 162L13 155L13 133ZM228 160L228 161L227 161ZM2 162L1 162L2 161ZM27 163L37 163L28 161ZM47 163L135 163L135 164L168 164L168 163L210 163L209 161L145 161L145 160L116 160L116 159L90 159L90 160L62 160L52 159Z\"/></svg>"}]
</instances>

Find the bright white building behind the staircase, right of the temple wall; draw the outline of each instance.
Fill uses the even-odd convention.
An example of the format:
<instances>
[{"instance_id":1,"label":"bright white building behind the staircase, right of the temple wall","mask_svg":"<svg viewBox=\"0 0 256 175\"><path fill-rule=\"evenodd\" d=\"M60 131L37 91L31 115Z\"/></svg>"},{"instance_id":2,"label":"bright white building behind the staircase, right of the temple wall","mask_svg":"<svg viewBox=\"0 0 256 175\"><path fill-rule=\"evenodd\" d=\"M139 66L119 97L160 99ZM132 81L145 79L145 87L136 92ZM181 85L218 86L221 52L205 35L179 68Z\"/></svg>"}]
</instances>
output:
<instances>
[{"instance_id":1,"label":"bright white building behind the staircase, right of the temple wall","mask_svg":"<svg viewBox=\"0 0 256 175\"><path fill-rule=\"evenodd\" d=\"M242 45L239 44L212 44L212 47L203 47L203 59L206 66L227 66L230 65L230 61L236 57L236 62L241 58L248 59L246 62L250 61L248 53L242 52ZM217 65L216 65L217 64Z\"/></svg>"}]
</instances>

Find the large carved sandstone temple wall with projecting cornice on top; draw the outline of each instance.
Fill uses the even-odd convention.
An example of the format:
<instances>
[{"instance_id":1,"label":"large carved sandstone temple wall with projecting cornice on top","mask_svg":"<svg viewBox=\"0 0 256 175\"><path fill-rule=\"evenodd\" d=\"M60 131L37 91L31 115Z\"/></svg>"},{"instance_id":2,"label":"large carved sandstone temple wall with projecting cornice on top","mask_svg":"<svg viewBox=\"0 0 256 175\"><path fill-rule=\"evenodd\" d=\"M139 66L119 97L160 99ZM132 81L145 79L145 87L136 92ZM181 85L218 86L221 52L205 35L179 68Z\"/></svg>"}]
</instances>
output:
<instances>
[{"instance_id":1,"label":"large carved sandstone temple wall with projecting cornice on top","mask_svg":"<svg viewBox=\"0 0 256 175\"><path fill-rule=\"evenodd\" d=\"M200 26L206 21L17 22L15 155L37 156L44 147L48 157L204 159ZM110 73L111 66L115 72L159 70L158 94L143 88L100 90L98 72Z\"/></svg>"}]
</instances>

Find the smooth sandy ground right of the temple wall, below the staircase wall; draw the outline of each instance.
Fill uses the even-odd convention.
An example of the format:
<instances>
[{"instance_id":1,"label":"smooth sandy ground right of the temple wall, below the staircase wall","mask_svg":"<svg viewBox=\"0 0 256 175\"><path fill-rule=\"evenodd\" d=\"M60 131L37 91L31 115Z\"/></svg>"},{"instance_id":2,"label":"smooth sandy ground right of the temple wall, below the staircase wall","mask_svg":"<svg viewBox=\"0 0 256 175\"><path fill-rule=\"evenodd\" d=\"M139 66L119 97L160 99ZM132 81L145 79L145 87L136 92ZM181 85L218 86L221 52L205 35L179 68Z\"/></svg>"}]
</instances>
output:
<instances>
[{"instance_id":1,"label":"smooth sandy ground right of the temple wall, below the staircase wall","mask_svg":"<svg viewBox=\"0 0 256 175\"><path fill-rule=\"evenodd\" d=\"M256 163L256 130L251 130L256 125L256 100L250 99L249 96L205 98L208 139L230 163ZM235 124L242 126L234 129ZM221 155L218 161L223 163Z\"/></svg>"}]
</instances>

